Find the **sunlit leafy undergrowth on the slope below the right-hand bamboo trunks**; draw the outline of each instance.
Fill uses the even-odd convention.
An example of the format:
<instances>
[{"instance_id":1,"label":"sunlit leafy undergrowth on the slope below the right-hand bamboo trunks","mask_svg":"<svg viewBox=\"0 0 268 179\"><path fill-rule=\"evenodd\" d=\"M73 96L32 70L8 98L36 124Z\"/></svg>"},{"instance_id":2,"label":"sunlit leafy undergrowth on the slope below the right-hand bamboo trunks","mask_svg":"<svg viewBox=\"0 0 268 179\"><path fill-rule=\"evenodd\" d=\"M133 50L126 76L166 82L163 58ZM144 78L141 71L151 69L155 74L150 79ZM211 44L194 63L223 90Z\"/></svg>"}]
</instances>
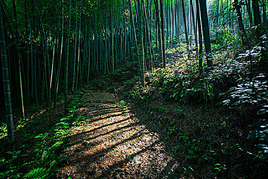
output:
<instances>
[{"instance_id":1,"label":"sunlit leafy undergrowth on the slope below the right-hand bamboo trunks","mask_svg":"<svg viewBox=\"0 0 268 179\"><path fill-rule=\"evenodd\" d=\"M205 69L200 75L197 63L178 60L166 69L146 74L146 87L137 83L129 93L133 101L165 101L185 103L215 103L219 94L235 86L237 80L248 73L249 62L236 59L215 60L214 69ZM191 63L191 65L190 65ZM152 96L153 95L153 96ZM151 98L152 96L152 98Z\"/></svg>"}]
</instances>

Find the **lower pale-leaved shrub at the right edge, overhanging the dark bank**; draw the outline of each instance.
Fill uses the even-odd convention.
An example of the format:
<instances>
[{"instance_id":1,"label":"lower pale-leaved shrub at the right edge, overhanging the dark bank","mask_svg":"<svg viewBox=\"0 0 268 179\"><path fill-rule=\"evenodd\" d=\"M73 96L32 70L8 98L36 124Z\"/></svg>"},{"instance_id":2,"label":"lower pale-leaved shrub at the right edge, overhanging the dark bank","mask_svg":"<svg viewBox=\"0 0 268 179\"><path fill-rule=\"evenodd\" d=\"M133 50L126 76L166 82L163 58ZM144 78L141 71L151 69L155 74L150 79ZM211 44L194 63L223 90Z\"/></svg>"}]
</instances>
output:
<instances>
[{"instance_id":1,"label":"lower pale-leaved shrub at the right edge, overhanging the dark bank","mask_svg":"<svg viewBox=\"0 0 268 179\"><path fill-rule=\"evenodd\" d=\"M261 160L266 160L268 157L268 121L262 118L268 114L268 81L265 77L265 74L259 74L252 81L239 80L237 86L231 87L227 92L228 99L217 103L230 107L260 106L257 113L259 121L250 125L253 130L250 131L248 138L258 141L255 144L257 149L249 153Z\"/></svg>"}]
</instances>

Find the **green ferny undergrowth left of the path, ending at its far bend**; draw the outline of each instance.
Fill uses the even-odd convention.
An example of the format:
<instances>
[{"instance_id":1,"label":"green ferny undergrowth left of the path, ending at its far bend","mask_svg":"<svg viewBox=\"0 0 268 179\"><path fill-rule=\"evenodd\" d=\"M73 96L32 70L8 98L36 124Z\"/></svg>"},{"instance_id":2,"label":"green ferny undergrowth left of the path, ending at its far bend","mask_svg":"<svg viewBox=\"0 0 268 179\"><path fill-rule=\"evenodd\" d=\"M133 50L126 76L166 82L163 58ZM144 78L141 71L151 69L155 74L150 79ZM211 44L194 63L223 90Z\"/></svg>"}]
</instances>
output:
<instances>
[{"instance_id":1,"label":"green ferny undergrowth left of the path, ending at its far bend","mask_svg":"<svg viewBox=\"0 0 268 179\"><path fill-rule=\"evenodd\" d=\"M57 119L49 119L48 111L40 113L16 127L16 150L8 151L6 137L2 138L0 151L0 178L53 178L66 160L60 155L64 139L74 126L84 119L74 117L80 97L72 98L69 113L56 112ZM52 117L53 118L53 117ZM4 132L1 135L4 136Z\"/></svg>"}]
</instances>

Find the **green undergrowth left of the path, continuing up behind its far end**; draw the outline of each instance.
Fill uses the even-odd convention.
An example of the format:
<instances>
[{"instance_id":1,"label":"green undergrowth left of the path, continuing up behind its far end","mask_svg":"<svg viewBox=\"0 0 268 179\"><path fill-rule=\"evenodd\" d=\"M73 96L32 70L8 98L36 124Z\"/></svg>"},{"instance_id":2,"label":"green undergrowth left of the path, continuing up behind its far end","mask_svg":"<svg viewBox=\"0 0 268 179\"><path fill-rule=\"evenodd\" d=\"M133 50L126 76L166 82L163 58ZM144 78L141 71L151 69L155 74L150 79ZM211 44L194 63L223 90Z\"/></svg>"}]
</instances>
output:
<instances>
[{"instance_id":1,"label":"green undergrowth left of the path, continuing up behind its far end","mask_svg":"<svg viewBox=\"0 0 268 179\"><path fill-rule=\"evenodd\" d=\"M64 109L54 108L52 117L49 111L40 111L27 121L14 118L16 150L8 151L6 124L0 125L0 178L56 178L66 159L60 154L64 150L65 137L75 126L86 124L90 117L76 117L76 111L83 102L83 94L88 90L114 92L135 76L131 73L133 64L126 62L114 74L104 74L90 81L90 85L80 84L77 95L69 100L68 114ZM110 85L111 84L111 85ZM118 105L125 105L120 101ZM33 106L33 108L35 108ZM36 109L33 111L36 111ZM53 116L54 114L54 116Z\"/></svg>"}]
</instances>

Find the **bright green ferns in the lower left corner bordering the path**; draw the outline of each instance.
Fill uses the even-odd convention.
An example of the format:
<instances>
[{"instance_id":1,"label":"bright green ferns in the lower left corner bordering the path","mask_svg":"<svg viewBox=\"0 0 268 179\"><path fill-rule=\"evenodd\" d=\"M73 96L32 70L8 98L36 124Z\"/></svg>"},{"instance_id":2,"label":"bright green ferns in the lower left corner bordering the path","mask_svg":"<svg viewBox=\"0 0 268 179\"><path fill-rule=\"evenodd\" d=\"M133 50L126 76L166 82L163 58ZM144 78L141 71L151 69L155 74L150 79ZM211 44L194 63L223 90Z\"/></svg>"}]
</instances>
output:
<instances>
[{"instance_id":1,"label":"bright green ferns in the lower left corner bordering the path","mask_svg":"<svg viewBox=\"0 0 268 179\"><path fill-rule=\"evenodd\" d=\"M58 165L66 160L58 153L62 150L63 140L70 132L71 122L74 120L73 114L63 117L50 130L38 133L35 129L42 117L32 121L25 132L17 140L17 150L6 152L1 151L0 177L1 178L52 178ZM31 132L29 131L31 130ZM32 131L33 130L33 131ZM35 147L29 148L28 143L34 142ZM31 151L31 159L25 161L25 151ZM14 165L21 163L21 165ZM24 173L24 174L23 174Z\"/></svg>"}]
</instances>

